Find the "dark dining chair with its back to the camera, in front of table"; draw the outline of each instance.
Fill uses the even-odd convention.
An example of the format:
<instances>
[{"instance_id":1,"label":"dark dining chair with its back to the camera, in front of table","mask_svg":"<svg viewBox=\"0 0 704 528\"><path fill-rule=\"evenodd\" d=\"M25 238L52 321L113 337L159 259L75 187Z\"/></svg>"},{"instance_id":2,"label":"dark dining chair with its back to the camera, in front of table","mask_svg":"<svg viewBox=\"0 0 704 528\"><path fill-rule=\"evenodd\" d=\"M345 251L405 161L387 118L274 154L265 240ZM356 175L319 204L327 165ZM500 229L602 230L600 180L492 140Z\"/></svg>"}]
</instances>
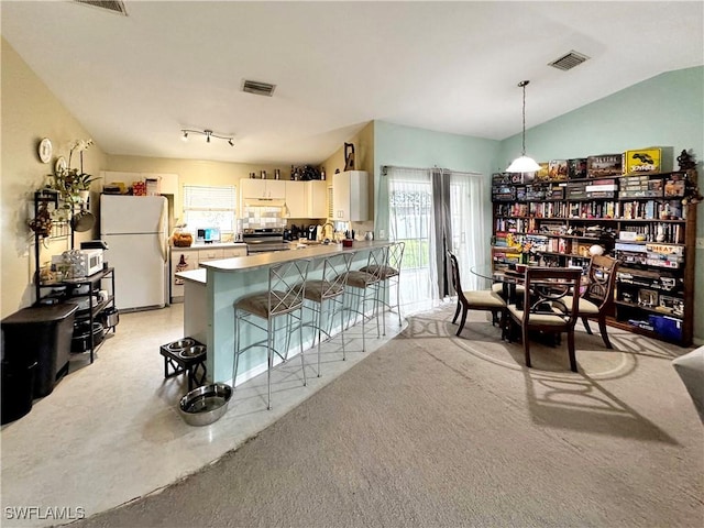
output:
<instances>
[{"instance_id":1,"label":"dark dining chair with its back to the camera, in front of table","mask_svg":"<svg viewBox=\"0 0 704 528\"><path fill-rule=\"evenodd\" d=\"M574 352L574 323L578 318L579 292L582 271L564 267L528 267L524 297L508 305L509 322L521 329L526 366L530 367L529 332L539 331L568 334L570 370L578 372ZM522 300L522 302L520 302ZM510 341L512 332L508 332Z\"/></svg>"}]
</instances>

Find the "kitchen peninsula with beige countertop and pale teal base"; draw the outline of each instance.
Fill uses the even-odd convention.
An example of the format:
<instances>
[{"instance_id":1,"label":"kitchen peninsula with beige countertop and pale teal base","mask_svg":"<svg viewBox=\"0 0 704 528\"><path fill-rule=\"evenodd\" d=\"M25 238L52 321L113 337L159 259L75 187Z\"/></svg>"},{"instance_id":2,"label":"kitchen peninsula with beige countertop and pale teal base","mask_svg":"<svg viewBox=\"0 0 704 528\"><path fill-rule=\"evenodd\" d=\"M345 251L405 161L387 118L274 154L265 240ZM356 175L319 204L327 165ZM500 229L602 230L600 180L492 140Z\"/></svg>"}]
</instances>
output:
<instances>
[{"instance_id":1,"label":"kitchen peninsula with beige countertop and pale teal base","mask_svg":"<svg viewBox=\"0 0 704 528\"><path fill-rule=\"evenodd\" d=\"M305 249L239 256L206 262L201 268L180 273L185 280L184 336L191 337L208 346L206 365L212 382L230 382L234 359L234 309L240 297L265 292L268 287L268 270L272 265L299 258L310 258L308 276L320 278L326 256L351 252L352 268L366 264L370 250L391 245L389 241L355 241L351 248L339 244L316 245ZM304 311L304 323L309 310ZM312 332L304 333L304 346L310 346ZM284 332L279 332L284 333ZM263 334L243 334L243 344L256 342ZM296 340L292 341L295 342ZM306 345L308 343L308 345ZM295 348L292 346L294 353ZM266 350L255 348L240 359L237 383L240 384L266 372Z\"/></svg>"}]
</instances>

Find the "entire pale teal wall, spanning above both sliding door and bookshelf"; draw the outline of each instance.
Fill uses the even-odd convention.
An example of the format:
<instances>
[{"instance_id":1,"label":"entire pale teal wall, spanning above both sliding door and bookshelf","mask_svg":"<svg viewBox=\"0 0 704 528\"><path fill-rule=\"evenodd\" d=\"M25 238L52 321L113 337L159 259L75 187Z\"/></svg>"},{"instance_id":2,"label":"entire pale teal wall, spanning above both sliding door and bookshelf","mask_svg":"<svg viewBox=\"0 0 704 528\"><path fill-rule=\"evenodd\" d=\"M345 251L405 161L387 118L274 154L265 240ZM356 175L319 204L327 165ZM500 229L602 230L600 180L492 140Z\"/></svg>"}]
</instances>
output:
<instances>
[{"instance_id":1,"label":"entire pale teal wall, spanning above both sliding door and bookshelf","mask_svg":"<svg viewBox=\"0 0 704 528\"><path fill-rule=\"evenodd\" d=\"M528 101L530 105L530 101ZM485 226L491 229L488 176L520 153L520 134L502 142L375 122L376 229L388 224L381 166L444 167L487 176ZM671 146L674 157L691 151L704 178L704 67L669 72L529 129L527 154L537 161ZM674 162L676 168L676 161ZM701 186L704 190L704 179ZM697 233L704 238L704 210ZM488 234L487 237L488 243ZM694 337L704 343L704 251L696 250ZM698 286L703 285L703 286Z\"/></svg>"}]
</instances>

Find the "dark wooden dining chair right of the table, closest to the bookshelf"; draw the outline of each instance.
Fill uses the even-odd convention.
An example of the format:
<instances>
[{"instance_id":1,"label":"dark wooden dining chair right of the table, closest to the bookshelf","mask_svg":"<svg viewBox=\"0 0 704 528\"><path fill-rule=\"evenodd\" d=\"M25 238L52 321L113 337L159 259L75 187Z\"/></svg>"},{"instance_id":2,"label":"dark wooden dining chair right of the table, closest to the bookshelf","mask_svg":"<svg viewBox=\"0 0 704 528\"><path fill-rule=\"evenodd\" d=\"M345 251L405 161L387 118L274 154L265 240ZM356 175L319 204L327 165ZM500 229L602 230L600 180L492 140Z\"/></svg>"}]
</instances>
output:
<instances>
[{"instance_id":1,"label":"dark wooden dining chair right of the table, closest to the bookshelf","mask_svg":"<svg viewBox=\"0 0 704 528\"><path fill-rule=\"evenodd\" d=\"M604 255L592 256L586 273L587 284L580 295L578 305L578 317L582 319L586 333L592 334L588 320L596 319L598 321L598 330L607 349L613 349L606 333L606 316L614 302L617 267L618 261L616 258Z\"/></svg>"}]
</instances>

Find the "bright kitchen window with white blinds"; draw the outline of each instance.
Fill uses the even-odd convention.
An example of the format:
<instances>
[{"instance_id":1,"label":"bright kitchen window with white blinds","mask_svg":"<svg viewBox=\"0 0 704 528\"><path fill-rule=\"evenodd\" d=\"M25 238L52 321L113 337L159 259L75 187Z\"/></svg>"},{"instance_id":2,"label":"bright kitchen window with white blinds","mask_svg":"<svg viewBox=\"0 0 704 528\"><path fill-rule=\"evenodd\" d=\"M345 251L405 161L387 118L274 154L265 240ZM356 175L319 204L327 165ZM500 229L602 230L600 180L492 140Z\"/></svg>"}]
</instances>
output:
<instances>
[{"instance_id":1,"label":"bright kitchen window with white blinds","mask_svg":"<svg viewBox=\"0 0 704 528\"><path fill-rule=\"evenodd\" d=\"M187 230L220 228L221 233L234 232L237 188L232 186L184 186L184 222Z\"/></svg>"}]
</instances>

